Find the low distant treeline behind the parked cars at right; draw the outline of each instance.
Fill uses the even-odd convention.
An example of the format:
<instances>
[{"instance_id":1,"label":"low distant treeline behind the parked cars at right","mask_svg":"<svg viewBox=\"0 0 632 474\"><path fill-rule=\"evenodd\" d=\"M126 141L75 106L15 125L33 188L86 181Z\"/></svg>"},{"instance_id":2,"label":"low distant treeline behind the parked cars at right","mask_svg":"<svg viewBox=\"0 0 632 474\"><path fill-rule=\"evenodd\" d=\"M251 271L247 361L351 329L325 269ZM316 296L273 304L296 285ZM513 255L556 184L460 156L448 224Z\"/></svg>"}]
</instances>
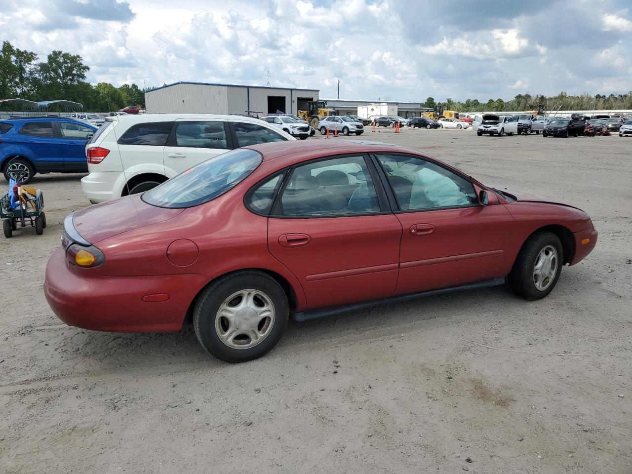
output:
<instances>
[{"instance_id":1,"label":"low distant treeline behind the parked cars at right","mask_svg":"<svg viewBox=\"0 0 632 474\"><path fill-rule=\"evenodd\" d=\"M560 106L561 110L632 109L632 90L628 92L628 94L619 95L568 95L562 91L555 97L518 94L512 100L507 100L507 102L502 99L489 99L487 102L479 102L477 99L468 99L465 100L465 102L446 99L446 101L442 103L446 104L447 110L457 112L526 111L530 109L532 104L543 104L547 112L552 109L557 110ZM434 105L435 100L433 97L428 97L425 104L423 104L424 107L434 107Z\"/></svg>"}]
</instances>

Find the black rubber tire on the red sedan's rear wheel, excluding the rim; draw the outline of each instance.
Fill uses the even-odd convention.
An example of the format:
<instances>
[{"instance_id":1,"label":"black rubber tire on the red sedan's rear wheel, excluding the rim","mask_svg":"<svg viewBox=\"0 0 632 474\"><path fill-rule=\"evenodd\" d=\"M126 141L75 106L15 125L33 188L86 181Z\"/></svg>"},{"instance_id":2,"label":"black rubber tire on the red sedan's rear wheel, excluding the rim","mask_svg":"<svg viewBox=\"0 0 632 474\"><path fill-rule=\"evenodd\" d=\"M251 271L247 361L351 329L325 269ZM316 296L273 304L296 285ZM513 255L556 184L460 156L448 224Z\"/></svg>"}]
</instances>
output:
<instances>
[{"instance_id":1,"label":"black rubber tire on the red sedan's rear wheel, excluding the rim","mask_svg":"<svg viewBox=\"0 0 632 474\"><path fill-rule=\"evenodd\" d=\"M228 346L217 334L216 316L227 298L244 289L254 289L269 298L274 307L274 321L260 343L239 349ZM281 285L264 273L248 270L222 277L204 290L193 310L193 329L202 347L211 355L224 362L246 362L265 355L276 346L288 325L288 316L288 297Z\"/></svg>"}]
</instances>

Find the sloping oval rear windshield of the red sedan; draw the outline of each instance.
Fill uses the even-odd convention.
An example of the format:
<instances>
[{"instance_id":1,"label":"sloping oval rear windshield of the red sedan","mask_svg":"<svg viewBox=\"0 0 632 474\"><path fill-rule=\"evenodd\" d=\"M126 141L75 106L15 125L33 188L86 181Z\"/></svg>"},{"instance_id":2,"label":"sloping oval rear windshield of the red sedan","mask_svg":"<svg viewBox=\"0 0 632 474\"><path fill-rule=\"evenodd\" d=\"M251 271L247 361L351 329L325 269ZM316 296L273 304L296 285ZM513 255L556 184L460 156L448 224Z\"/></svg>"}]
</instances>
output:
<instances>
[{"instance_id":1,"label":"sloping oval rear windshield of the red sedan","mask_svg":"<svg viewBox=\"0 0 632 474\"><path fill-rule=\"evenodd\" d=\"M192 207L209 202L238 185L257 169L263 158L241 148L204 161L142 195L158 207Z\"/></svg>"}]
</instances>

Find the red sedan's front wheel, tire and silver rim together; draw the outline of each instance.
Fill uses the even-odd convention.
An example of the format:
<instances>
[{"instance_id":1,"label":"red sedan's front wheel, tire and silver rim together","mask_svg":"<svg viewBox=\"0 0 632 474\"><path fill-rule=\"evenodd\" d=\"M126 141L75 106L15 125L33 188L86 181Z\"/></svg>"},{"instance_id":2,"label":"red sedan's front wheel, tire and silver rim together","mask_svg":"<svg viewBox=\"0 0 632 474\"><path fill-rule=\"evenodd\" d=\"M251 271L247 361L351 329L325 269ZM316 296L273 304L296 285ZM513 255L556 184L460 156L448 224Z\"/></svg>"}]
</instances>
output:
<instances>
[{"instance_id":1,"label":"red sedan's front wheel, tire and silver rim together","mask_svg":"<svg viewBox=\"0 0 632 474\"><path fill-rule=\"evenodd\" d=\"M564 265L562 243L556 234L533 234L520 250L509 274L509 286L526 300L549 295L557 284Z\"/></svg>"}]
</instances>

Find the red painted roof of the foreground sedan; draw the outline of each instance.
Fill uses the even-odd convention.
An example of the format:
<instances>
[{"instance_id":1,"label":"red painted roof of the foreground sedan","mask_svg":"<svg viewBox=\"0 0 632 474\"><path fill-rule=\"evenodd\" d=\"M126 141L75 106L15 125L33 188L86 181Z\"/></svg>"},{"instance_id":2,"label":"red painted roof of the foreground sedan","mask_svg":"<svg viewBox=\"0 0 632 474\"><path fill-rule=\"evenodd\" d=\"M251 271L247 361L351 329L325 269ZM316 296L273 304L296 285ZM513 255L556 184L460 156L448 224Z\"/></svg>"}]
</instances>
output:
<instances>
[{"instance_id":1,"label":"red painted roof of the foreground sedan","mask_svg":"<svg viewBox=\"0 0 632 474\"><path fill-rule=\"evenodd\" d=\"M325 142L324 140L309 140L305 142L297 140L292 142L261 143L246 148L260 152L264 156L264 162L275 160L274 165L279 169L311 159L349 153L406 152L427 157L427 155L415 150L405 149L390 143L369 142L368 140L344 140L334 143Z\"/></svg>"}]
</instances>

